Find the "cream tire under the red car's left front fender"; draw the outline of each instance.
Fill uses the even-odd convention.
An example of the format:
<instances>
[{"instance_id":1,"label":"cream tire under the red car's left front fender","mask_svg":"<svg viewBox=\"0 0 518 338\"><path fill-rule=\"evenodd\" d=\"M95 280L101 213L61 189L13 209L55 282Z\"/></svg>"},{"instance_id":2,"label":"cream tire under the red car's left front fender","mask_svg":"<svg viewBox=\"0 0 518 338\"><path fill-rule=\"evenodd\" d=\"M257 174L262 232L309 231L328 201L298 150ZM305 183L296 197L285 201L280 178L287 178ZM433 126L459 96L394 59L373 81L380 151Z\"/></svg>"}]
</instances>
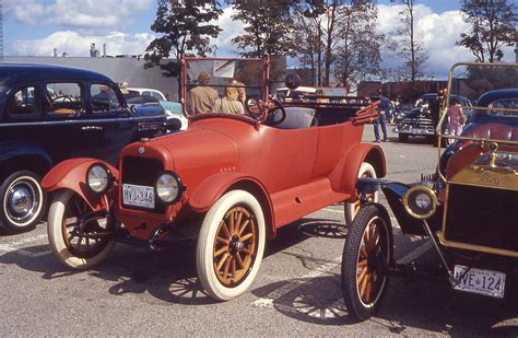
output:
<instances>
[{"instance_id":1,"label":"cream tire under the red car's left front fender","mask_svg":"<svg viewBox=\"0 0 518 338\"><path fill-rule=\"evenodd\" d=\"M109 240L102 240L104 242L101 242L101 244L97 242L89 242L90 244L85 252L80 252L82 242L79 243L76 247L72 246L73 238L70 240L70 233L67 230L67 221L71 219L69 215L73 213L71 208L80 208L72 206L72 202L76 199L82 200L81 197L72 190L63 189L56 193L52 203L50 205L47 231L50 247L58 260L66 267L81 270L102 263L108 256L115 243ZM80 212L75 213L80 214ZM97 225L99 228L102 226L98 223ZM102 229L106 230L113 225L106 221L104 226L105 228ZM93 241L87 238L83 240ZM97 247L94 245L97 245ZM84 247L86 247L86 245L84 245Z\"/></svg>"}]
</instances>

